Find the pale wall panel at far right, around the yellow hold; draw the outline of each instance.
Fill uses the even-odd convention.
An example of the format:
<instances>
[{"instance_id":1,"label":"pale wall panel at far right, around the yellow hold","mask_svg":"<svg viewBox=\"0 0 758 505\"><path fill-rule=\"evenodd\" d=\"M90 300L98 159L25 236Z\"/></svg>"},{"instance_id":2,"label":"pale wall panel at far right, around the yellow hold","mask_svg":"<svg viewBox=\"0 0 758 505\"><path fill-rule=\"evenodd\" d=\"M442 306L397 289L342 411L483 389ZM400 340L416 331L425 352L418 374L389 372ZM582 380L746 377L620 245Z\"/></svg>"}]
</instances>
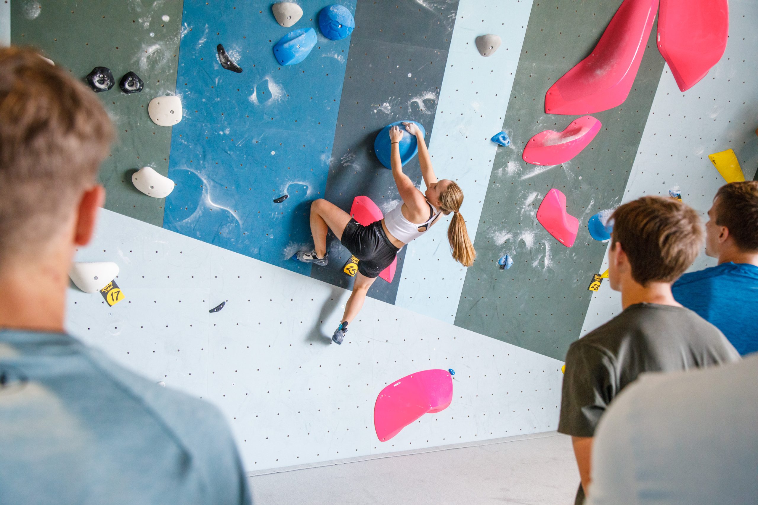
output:
<instances>
[{"instance_id":1,"label":"pale wall panel at far right, around the yellow hold","mask_svg":"<svg viewBox=\"0 0 758 505\"><path fill-rule=\"evenodd\" d=\"M669 67L663 70L622 203L644 195L668 195L678 185L682 201L707 220L716 190L726 183L708 154L730 148L745 178L753 179L758 165L758 87L753 82L758 75L758 2L732 0L729 10L726 52L700 83L680 92ZM690 271L714 266L714 258L700 254ZM607 248L600 272L606 268ZM619 312L621 296L604 281L592 296L581 335Z\"/></svg>"}]
</instances>

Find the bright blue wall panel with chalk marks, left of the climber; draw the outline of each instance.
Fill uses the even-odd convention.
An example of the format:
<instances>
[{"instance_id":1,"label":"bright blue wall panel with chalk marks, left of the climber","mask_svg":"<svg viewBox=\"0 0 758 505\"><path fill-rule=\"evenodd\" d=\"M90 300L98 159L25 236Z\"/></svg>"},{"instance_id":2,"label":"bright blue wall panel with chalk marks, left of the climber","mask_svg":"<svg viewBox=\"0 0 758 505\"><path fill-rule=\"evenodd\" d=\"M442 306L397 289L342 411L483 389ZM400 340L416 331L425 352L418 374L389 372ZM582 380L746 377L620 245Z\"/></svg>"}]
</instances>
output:
<instances>
[{"instance_id":1,"label":"bright blue wall panel with chalk marks, left of the climber","mask_svg":"<svg viewBox=\"0 0 758 505\"><path fill-rule=\"evenodd\" d=\"M349 38L318 32L324 2L298 2L290 28L273 2L223 7L185 2L177 95L184 119L174 126L164 228L308 275L289 257L311 241L308 199L326 187ZM338 2L355 11L356 2ZM313 27L318 42L305 61L281 66L272 48L291 30ZM243 68L224 70L216 45ZM274 203L283 194L290 198Z\"/></svg>"}]
</instances>

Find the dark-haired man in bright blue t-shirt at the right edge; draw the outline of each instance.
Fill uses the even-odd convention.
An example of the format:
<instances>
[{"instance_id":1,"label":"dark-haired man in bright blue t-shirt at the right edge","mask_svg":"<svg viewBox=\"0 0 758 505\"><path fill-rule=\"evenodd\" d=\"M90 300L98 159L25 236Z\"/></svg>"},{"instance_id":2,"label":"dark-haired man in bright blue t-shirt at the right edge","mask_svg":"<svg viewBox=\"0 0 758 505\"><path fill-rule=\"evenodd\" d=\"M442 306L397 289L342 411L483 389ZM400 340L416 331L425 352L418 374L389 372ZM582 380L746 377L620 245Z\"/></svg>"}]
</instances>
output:
<instances>
[{"instance_id":1,"label":"dark-haired man in bright blue t-shirt at the right edge","mask_svg":"<svg viewBox=\"0 0 758 505\"><path fill-rule=\"evenodd\" d=\"M706 254L719 265L685 273L672 292L744 356L758 351L758 181L723 185L708 217Z\"/></svg>"}]
</instances>

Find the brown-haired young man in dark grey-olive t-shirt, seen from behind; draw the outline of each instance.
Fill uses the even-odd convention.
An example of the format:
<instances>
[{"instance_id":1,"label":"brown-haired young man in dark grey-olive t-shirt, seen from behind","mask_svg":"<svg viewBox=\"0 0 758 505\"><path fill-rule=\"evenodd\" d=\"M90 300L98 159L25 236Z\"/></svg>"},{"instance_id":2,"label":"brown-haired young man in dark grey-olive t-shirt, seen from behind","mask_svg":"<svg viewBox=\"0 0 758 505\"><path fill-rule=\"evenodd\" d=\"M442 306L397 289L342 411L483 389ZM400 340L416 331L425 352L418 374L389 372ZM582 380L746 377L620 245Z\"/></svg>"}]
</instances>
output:
<instances>
[{"instance_id":1,"label":"brown-haired young man in dark grey-olive t-shirt, seen from behind","mask_svg":"<svg viewBox=\"0 0 758 505\"><path fill-rule=\"evenodd\" d=\"M644 372L730 363L739 354L716 326L681 307L671 285L703 242L686 204L644 197L615 210L608 254L611 288L623 312L575 341L566 354L558 431L572 435L581 476L575 503L590 484L595 427L616 394Z\"/></svg>"}]
</instances>

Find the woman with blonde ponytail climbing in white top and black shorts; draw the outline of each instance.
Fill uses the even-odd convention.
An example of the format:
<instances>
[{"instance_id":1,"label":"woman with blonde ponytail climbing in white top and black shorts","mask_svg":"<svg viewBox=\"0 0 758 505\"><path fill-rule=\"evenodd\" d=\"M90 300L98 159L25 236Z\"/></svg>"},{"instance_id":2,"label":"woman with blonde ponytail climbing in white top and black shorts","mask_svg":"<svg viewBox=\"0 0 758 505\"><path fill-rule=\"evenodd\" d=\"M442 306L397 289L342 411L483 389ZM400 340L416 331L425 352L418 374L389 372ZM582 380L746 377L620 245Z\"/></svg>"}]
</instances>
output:
<instances>
[{"instance_id":1,"label":"woman with blonde ponytail climbing in white top and black shorts","mask_svg":"<svg viewBox=\"0 0 758 505\"><path fill-rule=\"evenodd\" d=\"M392 175L402 204L384 216L383 220L362 226L335 204L319 198L311 204L311 232L315 248L311 252L300 251L297 259L305 263L324 266L328 263L327 228L342 242L350 253L359 259L356 282L352 294L345 305L342 323L332 336L332 341L342 344L347 325L358 315L366 293L382 270L389 267L397 251L403 245L420 237L437 222L440 214L453 213L447 229L453 259L466 267L471 267L476 257L474 246L468 238L466 223L459 210L463 203L463 192L459 185L449 179L437 180L431 166L431 157L424 134L414 123L402 123L418 142L418 161L421 176L427 187L422 193L413 182L402 173L399 142L402 131L398 126L390 129Z\"/></svg>"}]
</instances>

